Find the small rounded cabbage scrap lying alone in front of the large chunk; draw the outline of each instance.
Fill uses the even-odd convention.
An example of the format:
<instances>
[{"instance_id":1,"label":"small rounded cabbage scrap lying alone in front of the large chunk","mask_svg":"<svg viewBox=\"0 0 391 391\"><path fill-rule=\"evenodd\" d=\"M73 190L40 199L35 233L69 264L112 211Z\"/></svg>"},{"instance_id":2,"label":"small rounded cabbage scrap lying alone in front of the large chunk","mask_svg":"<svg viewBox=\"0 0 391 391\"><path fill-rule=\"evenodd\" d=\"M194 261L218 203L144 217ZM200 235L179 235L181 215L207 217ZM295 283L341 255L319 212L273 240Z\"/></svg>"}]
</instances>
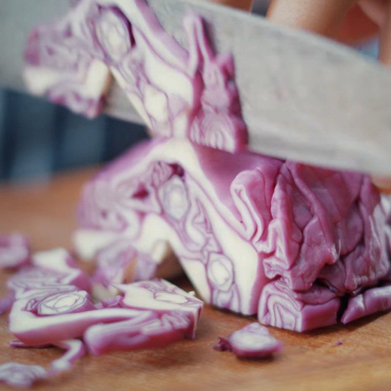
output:
<instances>
[{"instance_id":1,"label":"small rounded cabbage scrap lying alone in front of the large chunk","mask_svg":"<svg viewBox=\"0 0 391 391\"><path fill-rule=\"evenodd\" d=\"M254 322L234 331L228 338L220 337L213 348L232 351L240 358L266 358L281 351L282 343L269 335L266 327Z\"/></svg>"}]
</instances>

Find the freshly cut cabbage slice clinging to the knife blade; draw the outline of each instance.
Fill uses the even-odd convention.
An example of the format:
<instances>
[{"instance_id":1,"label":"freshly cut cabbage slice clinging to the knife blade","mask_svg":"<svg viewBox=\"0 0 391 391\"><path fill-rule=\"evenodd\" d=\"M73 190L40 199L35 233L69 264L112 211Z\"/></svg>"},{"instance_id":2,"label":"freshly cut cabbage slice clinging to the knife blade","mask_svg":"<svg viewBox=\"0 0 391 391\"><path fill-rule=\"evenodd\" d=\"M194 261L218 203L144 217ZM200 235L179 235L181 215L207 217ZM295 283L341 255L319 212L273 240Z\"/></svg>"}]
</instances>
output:
<instances>
[{"instance_id":1,"label":"freshly cut cabbage slice clinging to the knife blade","mask_svg":"<svg viewBox=\"0 0 391 391\"><path fill-rule=\"evenodd\" d=\"M184 19L186 51L144 0L80 0L62 19L30 33L30 91L97 115L110 73L153 134L236 151L247 131L230 55L215 55L197 15Z\"/></svg>"}]
</instances>

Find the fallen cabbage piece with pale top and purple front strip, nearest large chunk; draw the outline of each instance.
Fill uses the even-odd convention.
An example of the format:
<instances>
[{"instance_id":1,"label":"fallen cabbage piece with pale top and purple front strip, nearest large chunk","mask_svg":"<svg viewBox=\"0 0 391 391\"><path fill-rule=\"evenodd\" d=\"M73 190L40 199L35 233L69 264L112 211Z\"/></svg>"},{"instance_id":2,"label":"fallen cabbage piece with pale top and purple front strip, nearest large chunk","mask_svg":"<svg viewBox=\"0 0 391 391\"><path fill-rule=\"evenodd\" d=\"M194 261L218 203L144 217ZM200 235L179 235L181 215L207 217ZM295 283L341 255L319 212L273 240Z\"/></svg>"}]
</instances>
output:
<instances>
[{"instance_id":1,"label":"fallen cabbage piece with pale top and purple front strip, nearest large chunk","mask_svg":"<svg viewBox=\"0 0 391 391\"><path fill-rule=\"evenodd\" d=\"M143 310L142 315L89 327L84 341L90 353L164 347L183 338L195 338L203 304L192 294L164 280L134 282L118 288L125 294L118 305Z\"/></svg>"}]
</instances>

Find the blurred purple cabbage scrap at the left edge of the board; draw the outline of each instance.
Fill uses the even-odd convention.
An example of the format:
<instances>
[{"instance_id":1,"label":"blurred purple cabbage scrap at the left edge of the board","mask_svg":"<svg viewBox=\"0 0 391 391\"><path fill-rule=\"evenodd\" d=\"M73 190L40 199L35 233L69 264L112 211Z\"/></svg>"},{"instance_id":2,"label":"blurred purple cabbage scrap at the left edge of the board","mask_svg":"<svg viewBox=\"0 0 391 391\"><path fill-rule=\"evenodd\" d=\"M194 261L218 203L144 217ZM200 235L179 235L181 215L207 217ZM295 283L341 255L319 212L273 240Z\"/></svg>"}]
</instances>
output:
<instances>
[{"instance_id":1,"label":"blurred purple cabbage scrap at the left edge of the board","mask_svg":"<svg viewBox=\"0 0 391 391\"><path fill-rule=\"evenodd\" d=\"M17 269L30 261L30 246L20 234L0 235L0 269Z\"/></svg>"}]
</instances>

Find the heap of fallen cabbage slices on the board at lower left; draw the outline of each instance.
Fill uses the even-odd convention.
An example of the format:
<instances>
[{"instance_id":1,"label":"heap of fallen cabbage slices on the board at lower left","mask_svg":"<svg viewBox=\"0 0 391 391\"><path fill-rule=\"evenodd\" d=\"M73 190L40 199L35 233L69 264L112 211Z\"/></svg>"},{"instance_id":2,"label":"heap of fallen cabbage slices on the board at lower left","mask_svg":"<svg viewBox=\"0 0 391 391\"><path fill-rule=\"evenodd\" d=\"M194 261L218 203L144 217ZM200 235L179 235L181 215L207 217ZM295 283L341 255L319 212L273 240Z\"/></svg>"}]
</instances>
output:
<instances>
[{"instance_id":1,"label":"heap of fallen cabbage slices on the board at lower left","mask_svg":"<svg viewBox=\"0 0 391 391\"><path fill-rule=\"evenodd\" d=\"M55 346L65 354L49 369L17 363L0 365L0 381L28 387L70 369L85 354L163 347L195 338L203 303L164 280L120 284L124 296L94 304L87 275L63 249L37 253L30 266L8 281L13 348ZM87 289L87 290L85 290Z\"/></svg>"}]
</instances>

